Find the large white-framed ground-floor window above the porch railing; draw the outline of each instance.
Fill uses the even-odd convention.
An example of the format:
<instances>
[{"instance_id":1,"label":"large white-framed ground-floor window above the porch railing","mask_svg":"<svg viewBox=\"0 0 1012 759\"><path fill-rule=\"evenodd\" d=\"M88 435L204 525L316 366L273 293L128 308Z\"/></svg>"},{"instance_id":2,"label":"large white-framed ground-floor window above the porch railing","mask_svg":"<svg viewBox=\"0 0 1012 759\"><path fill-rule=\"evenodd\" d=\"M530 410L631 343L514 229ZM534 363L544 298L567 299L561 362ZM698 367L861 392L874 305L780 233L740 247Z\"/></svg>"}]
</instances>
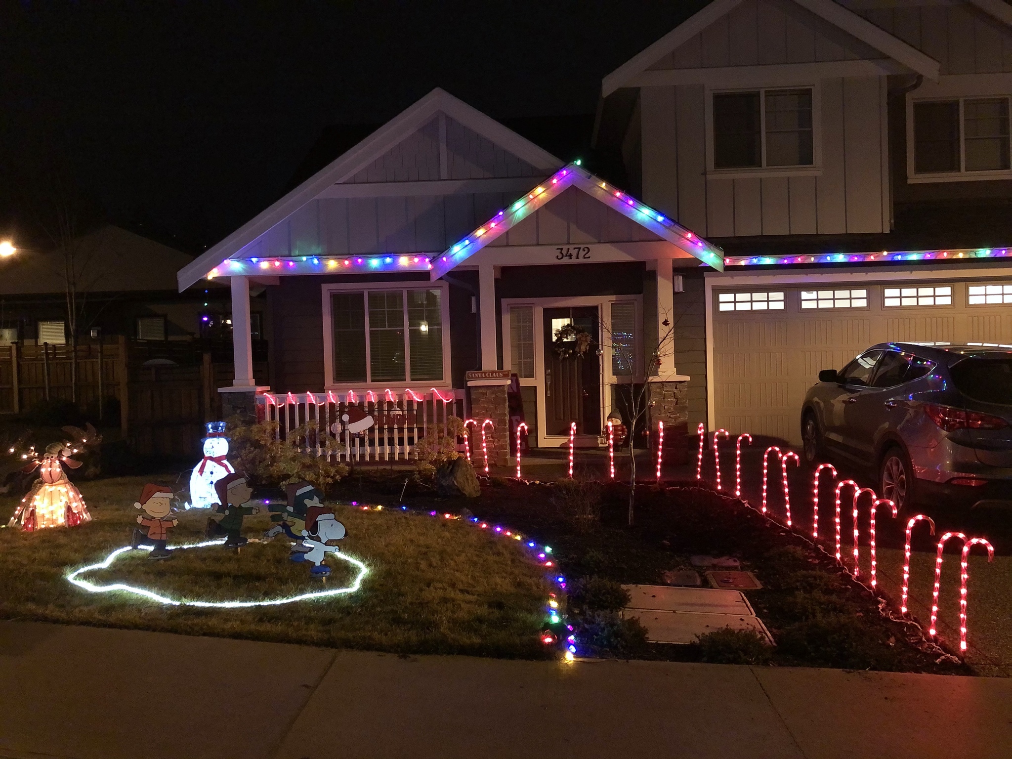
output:
<instances>
[{"instance_id":1,"label":"large white-framed ground-floor window above the porch railing","mask_svg":"<svg viewBox=\"0 0 1012 759\"><path fill-rule=\"evenodd\" d=\"M334 383L443 380L441 290L342 290L330 309Z\"/></svg>"}]
</instances>

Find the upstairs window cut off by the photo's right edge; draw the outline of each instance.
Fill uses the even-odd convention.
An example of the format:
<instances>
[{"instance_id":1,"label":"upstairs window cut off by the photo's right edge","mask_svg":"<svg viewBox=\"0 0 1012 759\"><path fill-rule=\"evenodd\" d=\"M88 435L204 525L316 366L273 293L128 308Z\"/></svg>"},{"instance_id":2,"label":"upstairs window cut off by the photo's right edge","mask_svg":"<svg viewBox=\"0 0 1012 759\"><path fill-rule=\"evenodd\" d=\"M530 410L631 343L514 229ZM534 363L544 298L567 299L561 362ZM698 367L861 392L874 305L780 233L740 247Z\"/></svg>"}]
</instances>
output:
<instances>
[{"instance_id":1,"label":"upstairs window cut off by the photo's right edge","mask_svg":"<svg viewBox=\"0 0 1012 759\"><path fill-rule=\"evenodd\" d=\"M914 103L914 173L1008 171L1009 98Z\"/></svg>"}]
</instances>

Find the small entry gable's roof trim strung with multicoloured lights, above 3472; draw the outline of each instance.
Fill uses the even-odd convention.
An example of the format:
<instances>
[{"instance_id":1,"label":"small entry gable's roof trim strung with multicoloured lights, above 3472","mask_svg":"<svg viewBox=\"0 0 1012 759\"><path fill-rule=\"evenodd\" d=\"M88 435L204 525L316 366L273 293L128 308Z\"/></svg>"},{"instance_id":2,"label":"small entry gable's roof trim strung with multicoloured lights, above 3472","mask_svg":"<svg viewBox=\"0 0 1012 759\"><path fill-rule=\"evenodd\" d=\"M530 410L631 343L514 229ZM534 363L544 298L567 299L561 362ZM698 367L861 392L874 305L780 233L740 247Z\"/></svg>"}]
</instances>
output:
<instances>
[{"instance_id":1,"label":"small entry gable's roof trim strung with multicoloured lights, above 3472","mask_svg":"<svg viewBox=\"0 0 1012 759\"><path fill-rule=\"evenodd\" d=\"M591 197L631 219L680 250L698 258L718 271L724 271L724 252L715 245L711 245L691 230L668 219L659 210L651 208L628 193L611 186L581 166L571 163L536 187L531 188L529 192L507 208L500 210L462 240L432 257L429 272L431 279L436 280L455 266L459 266L496 238L562 194L568 187L577 187L583 190Z\"/></svg>"}]
</instances>

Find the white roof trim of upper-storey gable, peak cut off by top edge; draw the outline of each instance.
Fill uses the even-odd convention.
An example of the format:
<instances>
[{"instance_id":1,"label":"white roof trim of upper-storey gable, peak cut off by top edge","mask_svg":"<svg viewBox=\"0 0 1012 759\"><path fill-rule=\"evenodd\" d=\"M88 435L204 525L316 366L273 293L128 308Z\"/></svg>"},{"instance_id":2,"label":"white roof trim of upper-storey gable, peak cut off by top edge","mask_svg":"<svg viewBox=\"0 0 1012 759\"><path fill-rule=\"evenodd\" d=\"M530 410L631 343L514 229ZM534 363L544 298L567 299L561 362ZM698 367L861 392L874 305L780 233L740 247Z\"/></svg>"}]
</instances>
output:
<instances>
[{"instance_id":1,"label":"white roof trim of upper-storey gable, peak cut off by top edge","mask_svg":"<svg viewBox=\"0 0 1012 759\"><path fill-rule=\"evenodd\" d=\"M656 43L630 58L601 82L601 94L607 97L615 90L628 86L628 82L656 64L660 59L707 26L734 10L743 0L713 0L707 6L687 18ZM988 2L988 0L981 0ZM833 0L787 0L811 11L822 19L846 31L875 50L883 53L911 71L928 79L938 81L939 63L899 37L861 18Z\"/></svg>"}]
</instances>

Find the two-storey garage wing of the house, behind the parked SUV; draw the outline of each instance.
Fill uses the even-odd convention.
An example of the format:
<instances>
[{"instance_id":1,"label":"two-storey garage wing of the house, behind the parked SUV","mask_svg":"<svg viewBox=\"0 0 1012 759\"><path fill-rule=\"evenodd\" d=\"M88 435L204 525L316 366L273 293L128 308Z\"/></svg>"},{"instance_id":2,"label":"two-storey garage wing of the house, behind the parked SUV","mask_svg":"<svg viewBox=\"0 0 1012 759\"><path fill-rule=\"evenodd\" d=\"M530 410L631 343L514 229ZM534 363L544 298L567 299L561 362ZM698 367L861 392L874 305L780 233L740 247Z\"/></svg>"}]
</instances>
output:
<instances>
[{"instance_id":1,"label":"two-storey garage wing of the house, behind the parked SUV","mask_svg":"<svg viewBox=\"0 0 1012 759\"><path fill-rule=\"evenodd\" d=\"M630 191L727 256L675 294L690 422L797 442L871 344L1012 344L1006 2L714 0L602 94Z\"/></svg>"}]
</instances>

